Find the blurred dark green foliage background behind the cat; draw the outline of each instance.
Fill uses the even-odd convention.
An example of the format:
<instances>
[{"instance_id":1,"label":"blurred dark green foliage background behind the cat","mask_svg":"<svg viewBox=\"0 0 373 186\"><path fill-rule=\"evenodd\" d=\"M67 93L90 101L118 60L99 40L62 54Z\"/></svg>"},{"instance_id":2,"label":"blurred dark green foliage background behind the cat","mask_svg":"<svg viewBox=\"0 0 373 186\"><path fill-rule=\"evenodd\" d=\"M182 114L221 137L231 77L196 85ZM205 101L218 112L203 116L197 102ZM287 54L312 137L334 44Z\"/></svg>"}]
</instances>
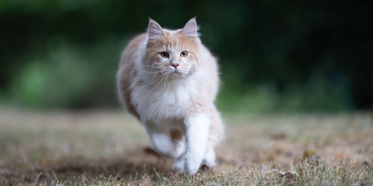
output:
<instances>
[{"instance_id":1,"label":"blurred dark green foliage background behind the cat","mask_svg":"<svg viewBox=\"0 0 373 186\"><path fill-rule=\"evenodd\" d=\"M372 7L362 1L1 0L0 103L27 109L120 108L121 51L148 17L197 16L219 58L224 112L373 108Z\"/></svg>"}]
</instances>

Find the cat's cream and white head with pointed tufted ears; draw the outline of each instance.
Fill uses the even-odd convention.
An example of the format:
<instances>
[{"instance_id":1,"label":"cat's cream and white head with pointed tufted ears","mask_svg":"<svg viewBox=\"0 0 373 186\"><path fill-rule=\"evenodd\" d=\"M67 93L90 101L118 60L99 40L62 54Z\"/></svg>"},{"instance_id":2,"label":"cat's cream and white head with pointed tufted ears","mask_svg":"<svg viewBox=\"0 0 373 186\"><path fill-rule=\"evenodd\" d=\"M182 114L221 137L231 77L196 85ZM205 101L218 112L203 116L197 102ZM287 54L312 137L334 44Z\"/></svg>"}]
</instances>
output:
<instances>
[{"instance_id":1,"label":"cat's cream and white head with pointed tufted ears","mask_svg":"<svg viewBox=\"0 0 373 186\"><path fill-rule=\"evenodd\" d=\"M183 29L162 29L154 20L149 20L148 41L143 62L144 67L158 76L184 78L197 70L200 58L200 39L195 18Z\"/></svg>"}]
</instances>

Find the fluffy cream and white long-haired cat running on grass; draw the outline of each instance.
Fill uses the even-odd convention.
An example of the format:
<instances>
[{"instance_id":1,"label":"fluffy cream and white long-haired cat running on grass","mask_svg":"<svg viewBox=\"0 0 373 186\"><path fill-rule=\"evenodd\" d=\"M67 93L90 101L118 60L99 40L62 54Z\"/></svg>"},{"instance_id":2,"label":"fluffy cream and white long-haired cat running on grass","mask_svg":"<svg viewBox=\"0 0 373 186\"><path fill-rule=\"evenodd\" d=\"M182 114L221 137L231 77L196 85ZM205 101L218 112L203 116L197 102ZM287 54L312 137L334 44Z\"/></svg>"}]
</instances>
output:
<instances>
[{"instance_id":1,"label":"fluffy cream and white long-haired cat running on grass","mask_svg":"<svg viewBox=\"0 0 373 186\"><path fill-rule=\"evenodd\" d=\"M215 166L224 125L214 105L217 60L201 43L195 18L168 30L149 19L147 33L124 49L117 71L122 105L145 126L154 150L189 175Z\"/></svg>"}]
</instances>

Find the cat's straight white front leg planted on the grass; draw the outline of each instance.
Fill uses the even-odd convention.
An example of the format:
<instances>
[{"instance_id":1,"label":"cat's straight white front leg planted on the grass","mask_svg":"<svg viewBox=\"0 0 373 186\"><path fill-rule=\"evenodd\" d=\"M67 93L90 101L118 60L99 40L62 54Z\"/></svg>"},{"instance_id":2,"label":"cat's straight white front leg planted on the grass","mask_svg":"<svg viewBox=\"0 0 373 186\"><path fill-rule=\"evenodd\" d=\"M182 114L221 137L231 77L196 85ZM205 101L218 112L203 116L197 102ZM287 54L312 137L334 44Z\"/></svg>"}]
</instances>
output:
<instances>
[{"instance_id":1,"label":"cat's straight white front leg planted on the grass","mask_svg":"<svg viewBox=\"0 0 373 186\"><path fill-rule=\"evenodd\" d=\"M191 175L197 173L206 151L209 135L210 118L207 114L193 114L186 116L186 153L184 169Z\"/></svg>"}]
</instances>

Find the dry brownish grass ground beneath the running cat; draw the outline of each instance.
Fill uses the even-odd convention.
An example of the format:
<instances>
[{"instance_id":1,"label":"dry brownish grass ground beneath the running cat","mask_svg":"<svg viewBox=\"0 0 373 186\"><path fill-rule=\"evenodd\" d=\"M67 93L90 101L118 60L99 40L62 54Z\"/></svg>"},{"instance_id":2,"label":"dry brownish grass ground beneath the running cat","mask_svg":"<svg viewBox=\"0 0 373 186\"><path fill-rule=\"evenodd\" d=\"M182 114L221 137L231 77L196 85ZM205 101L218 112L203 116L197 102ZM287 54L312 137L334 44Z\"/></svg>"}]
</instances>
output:
<instances>
[{"instance_id":1,"label":"dry brownish grass ground beneath the running cat","mask_svg":"<svg viewBox=\"0 0 373 186\"><path fill-rule=\"evenodd\" d=\"M122 111L0 109L0 185L372 185L373 114L228 114L188 177Z\"/></svg>"}]
</instances>

